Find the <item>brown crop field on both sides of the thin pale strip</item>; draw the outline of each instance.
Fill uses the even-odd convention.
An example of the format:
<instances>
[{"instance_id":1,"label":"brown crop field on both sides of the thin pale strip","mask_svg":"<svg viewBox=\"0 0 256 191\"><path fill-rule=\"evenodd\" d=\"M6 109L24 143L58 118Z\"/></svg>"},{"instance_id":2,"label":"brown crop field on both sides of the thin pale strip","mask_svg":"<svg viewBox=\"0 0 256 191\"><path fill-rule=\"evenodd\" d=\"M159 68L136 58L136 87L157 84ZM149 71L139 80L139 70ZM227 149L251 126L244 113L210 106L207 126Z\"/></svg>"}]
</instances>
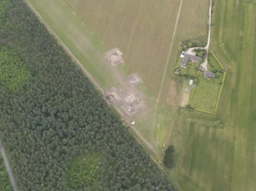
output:
<instances>
[{"instance_id":1,"label":"brown crop field on both sides of the thin pale strip","mask_svg":"<svg viewBox=\"0 0 256 191\"><path fill-rule=\"evenodd\" d=\"M105 46L121 49L128 69L138 72L147 88L154 94L158 93L180 0L64 1L101 38ZM202 15L207 15L208 1L196 0L193 5L191 7L191 1L183 1L178 36L186 33L186 27L190 28L191 38L203 35L206 30L207 18L204 21ZM196 10L199 12L193 14ZM189 19L184 19L185 13L190 14ZM197 20L197 17L200 19ZM172 59L176 54L173 47Z\"/></svg>"}]
</instances>

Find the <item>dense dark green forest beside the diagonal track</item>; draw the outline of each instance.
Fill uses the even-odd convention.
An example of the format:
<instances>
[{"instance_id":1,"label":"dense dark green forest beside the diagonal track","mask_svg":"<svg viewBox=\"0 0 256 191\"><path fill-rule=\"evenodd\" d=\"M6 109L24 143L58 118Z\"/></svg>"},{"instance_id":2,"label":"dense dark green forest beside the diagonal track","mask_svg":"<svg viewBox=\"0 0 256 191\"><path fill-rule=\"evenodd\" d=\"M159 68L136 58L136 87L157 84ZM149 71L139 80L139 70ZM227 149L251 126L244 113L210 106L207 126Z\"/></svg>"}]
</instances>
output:
<instances>
[{"instance_id":1,"label":"dense dark green forest beside the diagonal track","mask_svg":"<svg viewBox=\"0 0 256 191\"><path fill-rule=\"evenodd\" d=\"M20 190L175 189L22 0L0 1L0 46L16 74L0 78L0 135Z\"/></svg>"}]
</instances>

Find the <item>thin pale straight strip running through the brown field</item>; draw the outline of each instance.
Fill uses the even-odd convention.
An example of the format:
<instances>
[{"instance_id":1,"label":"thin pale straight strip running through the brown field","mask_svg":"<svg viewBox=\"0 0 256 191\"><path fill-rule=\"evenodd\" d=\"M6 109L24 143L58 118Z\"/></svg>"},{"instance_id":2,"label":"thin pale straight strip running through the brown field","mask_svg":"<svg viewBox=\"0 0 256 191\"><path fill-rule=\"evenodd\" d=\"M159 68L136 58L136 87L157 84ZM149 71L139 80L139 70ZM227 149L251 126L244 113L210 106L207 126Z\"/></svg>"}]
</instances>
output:
<instances>
[{"instance_id":1,"label":"thin pale straight strip running through the brown field","mask_svg":"<svg viewBox=\"0 0 256 191\"><path fill-rule=\"evenodd\" d=\"M161 83L160 83L160 89L159 89L158 96L157 96L156 106L158 105L159 100L160 100L160 96L162 94L162 90L163 90L163 86L164 86L164 79L165 79L165 76L166 76L166 73L167 73L167 68L168 68L168 65L169 65L169 62L170 62L170 53L173 49L173 43L174 43L175 36L176 36L177 26L178 26L178 23L179 23L179 20L180 20L180 12L181 12L182 5L183 5L183 0L180 1L180 7L179 7L179 11L177 13L175 27L174 27L174 30L173 30L173 37L172 37L172 40L170 42L170 48L169 48L169 52L168 52L168 55L167 55L167 62L165 63L165 67L164 67L164 75L163 75L163 78L161 79ZM157 110L157 107L156 107L156 110Z\"/></svg>"}]
</instances>

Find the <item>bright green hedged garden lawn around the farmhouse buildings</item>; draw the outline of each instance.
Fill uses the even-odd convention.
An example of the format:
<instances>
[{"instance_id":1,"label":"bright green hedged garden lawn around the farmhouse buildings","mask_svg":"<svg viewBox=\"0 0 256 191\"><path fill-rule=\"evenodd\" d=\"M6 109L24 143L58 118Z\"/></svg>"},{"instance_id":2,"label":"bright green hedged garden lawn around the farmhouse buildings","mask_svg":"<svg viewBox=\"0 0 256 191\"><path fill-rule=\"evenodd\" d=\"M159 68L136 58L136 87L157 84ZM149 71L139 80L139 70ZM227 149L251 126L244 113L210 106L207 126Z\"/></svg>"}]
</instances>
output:
<instances>
[{"instance_id":1,"label":"bright green hedged garden lawn around the farmhouse buildings","mask_svg":"<svg viewBox=\"0 0 256 191\"><path fill-rule=\"evenodd\" d=\"M199 69L204 60L204 53L200 49L196 49L195 52L196 56L202 59L201 62L190 61L186 68L183 68L180 65L183 62L183 58L179 56L174 74L186 78L184 81L186 84L188 81L193 80L193 84L190 84L193 89L190 94L189 107L186 108L215 114L225 81L225 68L222 67L214 53L209 51L207 69L214 74L214 78L205 78L204 72Z\"/></svg>"}]
</instances>

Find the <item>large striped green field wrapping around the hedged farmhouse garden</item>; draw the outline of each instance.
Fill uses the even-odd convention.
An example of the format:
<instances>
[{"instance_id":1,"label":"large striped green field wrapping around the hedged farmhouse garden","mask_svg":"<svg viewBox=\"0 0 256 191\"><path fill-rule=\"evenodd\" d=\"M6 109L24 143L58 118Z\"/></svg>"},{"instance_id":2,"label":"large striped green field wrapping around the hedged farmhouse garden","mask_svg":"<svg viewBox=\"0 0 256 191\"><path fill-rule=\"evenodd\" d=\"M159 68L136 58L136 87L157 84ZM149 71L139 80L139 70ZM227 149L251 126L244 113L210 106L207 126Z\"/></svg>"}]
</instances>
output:
<instances>
[{"instance_id":1,"label":"large striped green field wrapping around the hedged farmhouse garden","mask_svg":"<svg viewBox=\"0 0 256 191\"><path fill-rule=\"evenodd\" d=\"M211 46L227 68L216 116L180 111L172 138L183 190L256 190L256 4L215 0Z\"/></svg>"}]
</instances>

